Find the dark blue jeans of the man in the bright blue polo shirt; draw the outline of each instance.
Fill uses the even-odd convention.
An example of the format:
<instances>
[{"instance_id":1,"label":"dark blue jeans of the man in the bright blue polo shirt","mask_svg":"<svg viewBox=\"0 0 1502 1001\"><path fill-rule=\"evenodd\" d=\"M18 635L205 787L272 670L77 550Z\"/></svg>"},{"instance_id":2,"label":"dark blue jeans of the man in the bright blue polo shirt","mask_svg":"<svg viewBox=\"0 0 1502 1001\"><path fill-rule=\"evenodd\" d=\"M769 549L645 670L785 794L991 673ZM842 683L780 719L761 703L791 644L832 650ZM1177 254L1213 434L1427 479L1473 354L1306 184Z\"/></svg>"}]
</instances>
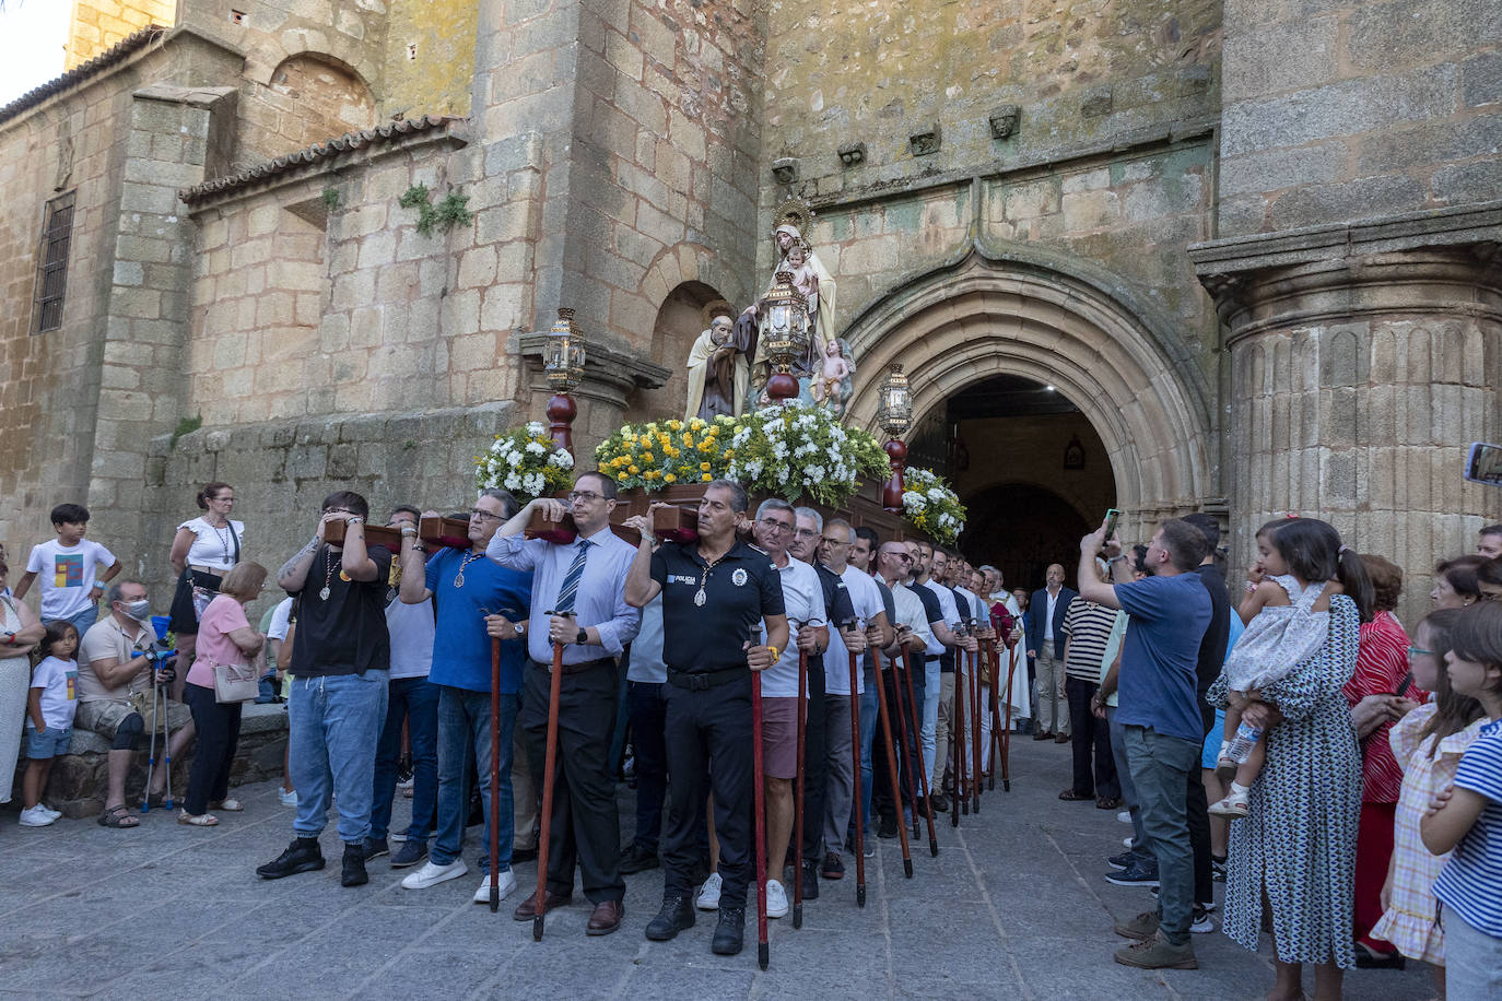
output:
<instances>
[{"instance_id":1,"label":"dark blue jeans of the man in the bright blue polo shirt","mask_svg":"<svg viewBox=\"0 0 1502 1001\"><path fill-rule=\"evenodd\" d=\"M490 872L490 692L470 692L451 684L439 689L439 836L430 860L446 866L464 848L464 821L469 819L469 776L479 779L485 809L481 837L481 872ZM500 872L511 869L511 740L521 696L500 696L500 827L497 828Z\"/></svg>"}]
</instances>

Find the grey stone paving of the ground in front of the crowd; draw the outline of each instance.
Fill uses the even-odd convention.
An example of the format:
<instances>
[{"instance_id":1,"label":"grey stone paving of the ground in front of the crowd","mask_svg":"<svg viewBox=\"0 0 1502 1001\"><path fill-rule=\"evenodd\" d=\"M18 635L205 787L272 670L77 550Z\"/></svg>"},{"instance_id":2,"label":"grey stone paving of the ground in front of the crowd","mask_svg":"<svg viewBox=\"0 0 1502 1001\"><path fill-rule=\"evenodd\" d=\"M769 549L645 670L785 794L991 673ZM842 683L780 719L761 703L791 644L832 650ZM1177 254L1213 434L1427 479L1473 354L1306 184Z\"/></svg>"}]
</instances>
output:
<instances>
[{"instance_id":1,"label":"grey stone paving of the ground in front of the crowd","mask_svg":"<svg viewBox=\"0 0 1502 1001\"><path fill-rule=\"evenodd\" d=\"M772 921L772 965L746 950L709 951L713 915L673 942L643 927L661 899L661 870L628 878L623 927L586 938L589 908L548 917L542 942L530 923L470 902L472 873L437 887L400 887L388 860L371 884L338 885L339 845L324 831L329 867L263 882L254 867L290 837L291 810L273 783L237 789L245 812L215 830L152 812L116 831L93 819L23 828L0 813L0 995L120 998L1260 998L1272 983L1269 948L1257 956L1218 932L1196 935L1199 971L1146 972L1111 962L1114 920L1146 909L1145 890L1104 881L1105 855L1128 831L1114 812L1062 803L1068 749L1012 744L1012 791L982 797L982 812L939 828L913 849L903 878L895 840L867 863L868 903L855 905L853 866L825 882L802 930ZM629 792L620 786L623 801ZM398 798L401 830L409 800ZM629 812L623 812L629 816ZM629 822L629 821L628 821ZM473 864L478 831L466 857ZM517 867L520 891L533 863ZM1220 887L1217 887L1220 891ZM1307 975L1308 987L1313 974ZM1422 968L1353 971L1347 998L1404 1001L1433 990Z\"/></svg>"}]
</instances>

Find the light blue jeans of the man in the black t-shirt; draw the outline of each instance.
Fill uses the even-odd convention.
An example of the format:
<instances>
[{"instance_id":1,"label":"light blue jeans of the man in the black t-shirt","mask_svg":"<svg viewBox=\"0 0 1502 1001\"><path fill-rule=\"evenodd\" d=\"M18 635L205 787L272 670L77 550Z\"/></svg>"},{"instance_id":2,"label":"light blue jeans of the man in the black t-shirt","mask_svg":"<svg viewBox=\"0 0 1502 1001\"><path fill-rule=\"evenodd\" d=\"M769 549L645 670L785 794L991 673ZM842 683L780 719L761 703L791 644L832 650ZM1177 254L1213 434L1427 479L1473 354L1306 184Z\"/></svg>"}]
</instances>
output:
<instances>
[{"instance_id":1,"label":"light blue jeans of the man in the black t-shirt","mask_svg":"<svg viewBox=\"0 0 1502 1001\"><path fill-rule=\"evenodd\" d=\"M339 840L363 843L371 833L376 743L386 719L386 671L302 677L287 702L288 767L297 788L299 837L317 837L338 803Z\"/></svg>"}]
</instances>

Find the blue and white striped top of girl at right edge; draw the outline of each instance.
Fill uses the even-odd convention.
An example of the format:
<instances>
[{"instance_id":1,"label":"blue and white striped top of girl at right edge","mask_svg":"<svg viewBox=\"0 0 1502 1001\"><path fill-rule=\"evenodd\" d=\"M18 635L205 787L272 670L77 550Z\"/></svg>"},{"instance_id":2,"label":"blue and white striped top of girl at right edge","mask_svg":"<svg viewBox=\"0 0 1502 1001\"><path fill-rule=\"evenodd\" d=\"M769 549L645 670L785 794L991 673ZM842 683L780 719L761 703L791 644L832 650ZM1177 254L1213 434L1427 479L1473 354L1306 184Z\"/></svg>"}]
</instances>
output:
<instances>
[{"instance_id":1,"label":"blue and white striped top of girl at right edge","mask_svg":"<svg viewBox=\"0 0 1502 1001\"><path fill-rule=\"evenodd\" d=\"M1482 726L1466 749L1455 788L1485 797L1487 804L1434 881L1434 896L1466 924L1502 938L1502 719Z\"/></svg>"}]
</instances>

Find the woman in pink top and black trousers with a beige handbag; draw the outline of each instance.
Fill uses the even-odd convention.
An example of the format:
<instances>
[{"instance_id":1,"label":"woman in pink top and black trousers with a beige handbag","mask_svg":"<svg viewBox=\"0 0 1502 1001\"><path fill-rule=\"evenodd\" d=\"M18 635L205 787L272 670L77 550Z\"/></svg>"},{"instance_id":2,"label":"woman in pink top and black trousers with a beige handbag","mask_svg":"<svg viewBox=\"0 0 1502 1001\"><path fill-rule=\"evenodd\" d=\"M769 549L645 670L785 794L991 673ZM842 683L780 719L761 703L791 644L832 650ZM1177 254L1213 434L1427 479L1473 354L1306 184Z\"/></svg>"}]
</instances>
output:
<instances>
[{"instance_id":1,"label":"woman in pink top and black trousers with a beige handbag","mask_svg":"<svg viewBox=\"0 0 1502 1001\"><path fill-rule=\"evenodd\" d=\"M228 798L230 765L240 740L240 704L254 699L266 636L245 617L266 584L266 567L240 563L219 581L219 594L209 602L198 623L198 659L188 669L183 701L198 729L198 753L188 773L188 798L179 824L215 827L210 809L240 810Z\"/></svg>"}]
</instances>

